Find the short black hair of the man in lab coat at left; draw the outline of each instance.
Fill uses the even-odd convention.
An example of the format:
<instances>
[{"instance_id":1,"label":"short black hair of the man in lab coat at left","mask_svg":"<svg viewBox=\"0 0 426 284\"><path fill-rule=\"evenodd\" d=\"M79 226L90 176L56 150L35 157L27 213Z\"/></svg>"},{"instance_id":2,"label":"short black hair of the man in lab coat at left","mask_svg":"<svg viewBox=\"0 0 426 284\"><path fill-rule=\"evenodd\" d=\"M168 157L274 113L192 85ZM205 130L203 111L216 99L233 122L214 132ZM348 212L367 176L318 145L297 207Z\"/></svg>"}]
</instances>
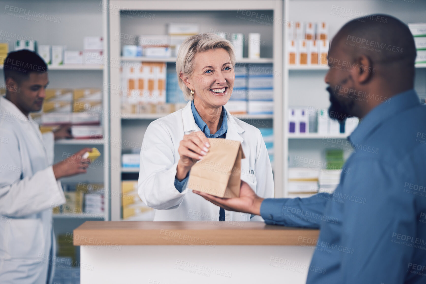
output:
<instances>
[{"instance_id":1,"label":"short black hair of the man in lab coat at left","mask_svg":"<svg viewBox=\"0 0 426 284\"><path fill-rule=\"evenodd\" d=\"M5 82L10 77L19 85L24 80L28 80L32 72L47 72L47 65L37 53L23 49L7 55L3 70Z\"/></svg>"}]
</instances>

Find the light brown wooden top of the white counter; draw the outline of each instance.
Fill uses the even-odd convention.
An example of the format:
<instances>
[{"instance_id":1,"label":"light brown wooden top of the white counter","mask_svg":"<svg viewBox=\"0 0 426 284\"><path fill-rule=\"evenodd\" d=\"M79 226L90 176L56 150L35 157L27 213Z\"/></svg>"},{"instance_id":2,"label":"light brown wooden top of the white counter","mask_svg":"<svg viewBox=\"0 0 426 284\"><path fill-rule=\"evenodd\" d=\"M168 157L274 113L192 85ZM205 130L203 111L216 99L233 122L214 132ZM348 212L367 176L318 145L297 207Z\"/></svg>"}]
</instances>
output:
<instances>
[{"instance_id":1,"label":"light brown wooden top of the white counter","mask_svg":"<svg viewBox=\"0 0 426 284\"><path fill-rule=\"evenodd\" d=\"M75 246L111 245L316 245L317 229L263 222L86 221L74 230Z\"/></svg>"}]
</instances>

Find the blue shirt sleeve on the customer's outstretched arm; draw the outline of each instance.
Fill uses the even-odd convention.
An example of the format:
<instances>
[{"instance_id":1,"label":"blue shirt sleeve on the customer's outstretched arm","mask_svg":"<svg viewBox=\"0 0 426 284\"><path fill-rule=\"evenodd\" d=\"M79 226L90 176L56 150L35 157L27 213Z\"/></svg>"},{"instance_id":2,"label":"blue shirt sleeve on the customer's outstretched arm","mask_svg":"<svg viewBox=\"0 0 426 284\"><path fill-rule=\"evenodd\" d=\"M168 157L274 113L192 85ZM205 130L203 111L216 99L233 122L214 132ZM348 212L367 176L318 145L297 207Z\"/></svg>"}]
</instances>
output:
<instances>
[{"instance_id":1,"label":"blue shirt sleeve on the customer's outstretched arm","mask_svg":"<svg viewBox=\"0 0 426 284\"><path fill-rule=\"evenodd\" d=\"M260 215L266 224L320 228L330 198L331 194L325 192L307 198L266 198L260 205Z\"/></svg>"}]
</instances>

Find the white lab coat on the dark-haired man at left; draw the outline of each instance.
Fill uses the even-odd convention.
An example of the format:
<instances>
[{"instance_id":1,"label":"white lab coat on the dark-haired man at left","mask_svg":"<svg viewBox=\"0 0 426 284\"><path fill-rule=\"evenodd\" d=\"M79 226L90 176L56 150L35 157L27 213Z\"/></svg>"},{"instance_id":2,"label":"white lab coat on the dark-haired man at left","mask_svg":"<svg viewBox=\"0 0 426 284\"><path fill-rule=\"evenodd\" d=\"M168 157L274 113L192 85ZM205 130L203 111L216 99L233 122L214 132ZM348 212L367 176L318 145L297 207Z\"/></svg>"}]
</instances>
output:
<instances>
[{"instance_id":1,"label":"white lab coat on the dark-haired man at left","mask_svg":"<svg viewBox=\"0 0 426 284\"><path fill-rule=\"evenodd\" d=\"M52 281L52 207L65 196L52 169L53 133L40 133L0 97L0 282Z\"/></svg>"}]
</instances>

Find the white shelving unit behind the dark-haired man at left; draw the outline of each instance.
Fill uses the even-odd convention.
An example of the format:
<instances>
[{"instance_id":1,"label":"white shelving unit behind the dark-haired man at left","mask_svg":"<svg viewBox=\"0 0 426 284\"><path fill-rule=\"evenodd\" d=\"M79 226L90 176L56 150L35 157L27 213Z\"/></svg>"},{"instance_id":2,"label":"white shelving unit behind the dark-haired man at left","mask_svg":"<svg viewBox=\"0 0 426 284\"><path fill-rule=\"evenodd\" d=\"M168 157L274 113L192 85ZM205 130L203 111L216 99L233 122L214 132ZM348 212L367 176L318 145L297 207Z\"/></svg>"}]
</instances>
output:
<instances>
[{"instance_id":1,"label":"white shelving unit behind the dark-haired man at left","mask_svg":"<svg viewBox=\"0 0 426 284\"><path fill-rule=\"evenodd\" d=\"M97 0L72 0L56 3L51 0L10 1L10 6L33 11L36 14L49 14L55 20L32 17L22 11L4 14L0 18L3 34L0 42L9 43L9 51L13 51L14 40L20 37L37 40L38 44L63 45L68 50L82 50L85 36L108 37L107 14L100 9ZM15 9L15 11L17 11ZM25 17L24 17L25 16ZM104 51L108 52L107 40ZM48 66L49 88L103 88L108 83L109 69L106 65L64 64ZM3 77L3 66L0 66ZM103 108L108 114L109 93L103 93ZM75 153L83 147L97 147L101 151L100 161L85 175L77 175L61 179L63 184L77 182L103 183L105 187L103 215L71 214L54 215L54 228L57 234L72 232L85 219L109 220L109 115L102 115L104 139L70 139L55 142L55 163L66 158L68 153Z\"/></svg>"}]
</instances>

